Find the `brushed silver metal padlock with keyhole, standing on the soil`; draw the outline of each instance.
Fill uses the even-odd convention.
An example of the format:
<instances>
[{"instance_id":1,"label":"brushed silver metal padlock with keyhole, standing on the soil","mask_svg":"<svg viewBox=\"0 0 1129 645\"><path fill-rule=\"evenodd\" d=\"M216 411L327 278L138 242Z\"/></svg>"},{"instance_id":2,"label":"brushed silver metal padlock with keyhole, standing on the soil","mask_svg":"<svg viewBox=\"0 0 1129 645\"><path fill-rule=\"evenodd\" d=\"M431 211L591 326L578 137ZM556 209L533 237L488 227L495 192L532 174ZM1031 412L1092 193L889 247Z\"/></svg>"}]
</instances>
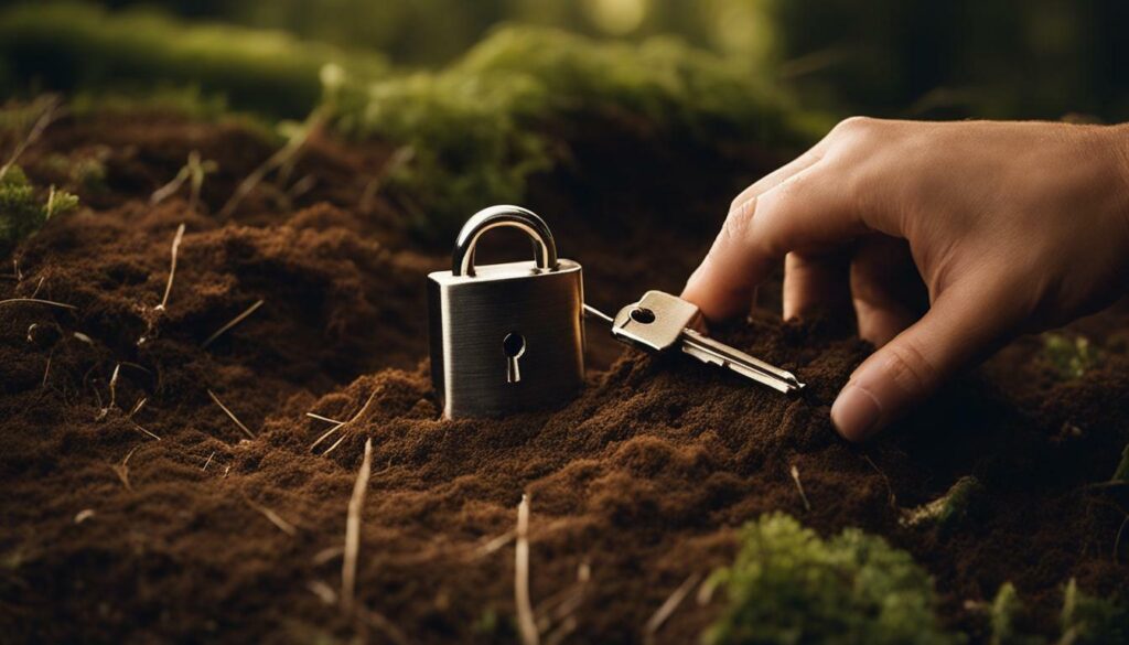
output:
<instances>
[{"instance_id":1,"label":"brushed silver metal padlock with keyhole, standing on the soil","mask_svg":"<svg viewBox=\"0 0 1129 645\"><path fill-rule=\"evenodd\" d=\"M534 260L474 265L488 230L533 239ZM431 382L447 418L497 417L559 406L584 386L584 278L557 258L552 233L515 206L479 211L463 226L450 271L428 276Z\"/></svg>"}]
</instances>

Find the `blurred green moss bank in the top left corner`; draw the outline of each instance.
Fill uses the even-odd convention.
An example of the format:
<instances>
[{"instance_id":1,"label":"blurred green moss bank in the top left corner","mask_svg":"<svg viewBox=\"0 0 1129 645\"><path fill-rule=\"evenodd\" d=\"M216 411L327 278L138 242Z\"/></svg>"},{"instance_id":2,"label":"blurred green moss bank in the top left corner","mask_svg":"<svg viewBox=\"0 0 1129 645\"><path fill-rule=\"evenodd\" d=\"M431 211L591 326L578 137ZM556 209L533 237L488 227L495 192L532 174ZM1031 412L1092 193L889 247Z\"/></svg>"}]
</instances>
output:
<instances>
[{"instance_id":1,"label":"blurred green moss bank in the top left corner","mask_svg":"<svg viewBox=\"0 0 1129 645\"><path fill-rule=\"evenodd\" d=\"M107 12L76 2L0 11L0 60L14 82L54 89L151 90L196 86L231 105L301 116L321 98L318 72L336 63L358 78L387 71L378 54L345 52L281 32L185 24L161 14Z\"/></svg>"}]
</instances>

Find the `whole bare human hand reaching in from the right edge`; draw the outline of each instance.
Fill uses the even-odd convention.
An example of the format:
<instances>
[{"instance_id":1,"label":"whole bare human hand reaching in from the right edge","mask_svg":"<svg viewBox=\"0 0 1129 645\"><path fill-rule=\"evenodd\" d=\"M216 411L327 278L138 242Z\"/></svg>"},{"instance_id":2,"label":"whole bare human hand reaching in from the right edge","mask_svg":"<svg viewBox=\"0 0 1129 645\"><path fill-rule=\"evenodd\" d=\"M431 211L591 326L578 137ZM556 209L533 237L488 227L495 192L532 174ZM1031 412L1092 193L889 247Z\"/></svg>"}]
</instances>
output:
<instances>
[{"instance_id":1,"label":"whole bare human hand reaching in from the right edge","mask_svg":"<svg viewBox=\"0 0 1129 645\"><path fill-rule=\"evenodd\" d=\"M785 317L850 302L878 347L831 408L868 438L1015 334L1126 293L1129 127L849 119L733 201L682 296L742 314L781 261Z\"/></svg>"}]
</instances>

